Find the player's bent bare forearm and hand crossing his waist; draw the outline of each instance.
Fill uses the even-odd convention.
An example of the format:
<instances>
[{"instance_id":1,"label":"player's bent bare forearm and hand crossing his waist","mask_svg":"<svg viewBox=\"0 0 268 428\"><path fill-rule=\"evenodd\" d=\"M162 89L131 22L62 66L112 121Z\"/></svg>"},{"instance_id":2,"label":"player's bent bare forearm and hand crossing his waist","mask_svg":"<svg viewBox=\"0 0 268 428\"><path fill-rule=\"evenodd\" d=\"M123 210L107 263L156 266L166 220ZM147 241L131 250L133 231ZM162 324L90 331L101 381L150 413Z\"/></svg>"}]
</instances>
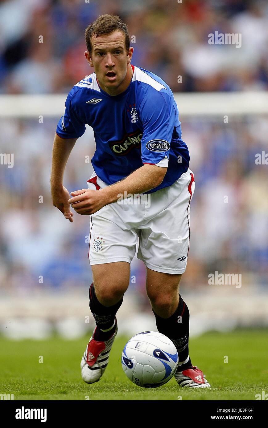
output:
<instances>
[{"instance_id":1,"label":"player's bent bare forearm and hand crossing his waist","mask_svg":"<svg viewBox=\"0 0 268 428\"><path fill-rule=\"evenodd\" d=\"M69 199L69 203L78 214L94 214L105 205L116 202L119 199L119 195L124 195L124 192L131 194L143 193L159 186L163 181L166 170L167 168L146 163L123 180L97 192L88 189L71 192L72 198Z\"/></svg>"}]
</instances>

